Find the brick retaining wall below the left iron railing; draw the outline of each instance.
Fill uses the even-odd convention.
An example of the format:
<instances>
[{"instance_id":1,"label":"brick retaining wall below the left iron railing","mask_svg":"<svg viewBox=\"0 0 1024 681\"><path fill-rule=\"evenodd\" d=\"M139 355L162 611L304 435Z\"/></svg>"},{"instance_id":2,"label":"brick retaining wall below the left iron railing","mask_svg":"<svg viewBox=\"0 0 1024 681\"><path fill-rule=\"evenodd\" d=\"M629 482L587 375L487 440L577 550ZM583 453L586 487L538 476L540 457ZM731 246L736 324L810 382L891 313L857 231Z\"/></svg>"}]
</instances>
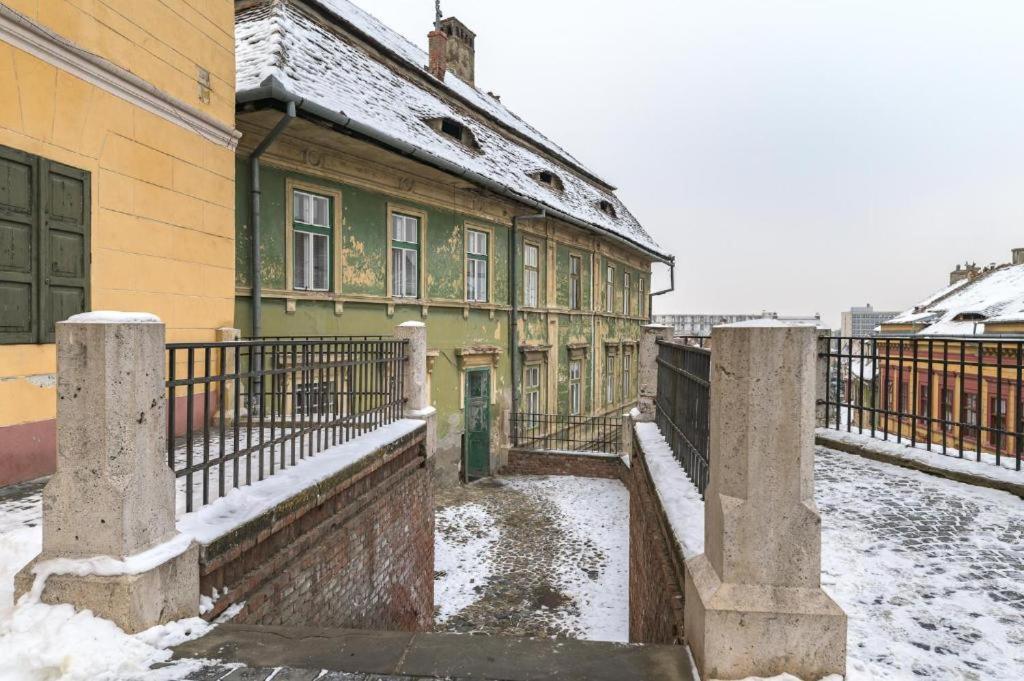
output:
<instances>
[{"instance_id":1,"label":"brick retaining wall below the left iron railing","mask_svg":"<svg viewBox=\"0 0 1024 681\"><path fill-rule=\"evenodd\" d=\"M433 621L434 509L425 430L206 547L205 616L238 624L425 631ZM280 517L279 517L280 516Z\"/></svg>"}]
</instances>

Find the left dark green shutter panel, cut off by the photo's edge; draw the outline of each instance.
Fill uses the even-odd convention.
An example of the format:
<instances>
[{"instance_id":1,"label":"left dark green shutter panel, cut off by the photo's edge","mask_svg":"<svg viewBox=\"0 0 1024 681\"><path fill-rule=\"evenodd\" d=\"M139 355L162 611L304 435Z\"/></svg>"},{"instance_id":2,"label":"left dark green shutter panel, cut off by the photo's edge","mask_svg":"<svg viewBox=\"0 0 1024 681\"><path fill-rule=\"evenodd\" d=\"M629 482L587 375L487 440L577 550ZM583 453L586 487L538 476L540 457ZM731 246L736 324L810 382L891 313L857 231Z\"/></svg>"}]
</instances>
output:
<instances>
[{"instance_id":1,"label":"left dark green shutter panel, cut off by the photo's edge","mask_svg":"<svg viewBox=\"0 0 1024 681\"><path fill-rule=\"evenodd\" d=\"M0 343L36 342L38 161L0 146Z\"/></svg>"}]
</instances>

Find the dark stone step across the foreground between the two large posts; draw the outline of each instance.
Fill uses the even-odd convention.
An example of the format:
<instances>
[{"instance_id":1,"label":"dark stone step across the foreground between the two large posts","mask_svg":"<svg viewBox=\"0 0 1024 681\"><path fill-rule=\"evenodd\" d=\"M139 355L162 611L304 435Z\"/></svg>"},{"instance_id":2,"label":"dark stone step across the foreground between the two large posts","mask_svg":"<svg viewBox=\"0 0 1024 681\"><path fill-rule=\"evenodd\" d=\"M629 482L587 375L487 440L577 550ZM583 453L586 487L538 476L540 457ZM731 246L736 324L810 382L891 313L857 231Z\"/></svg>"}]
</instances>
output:
<instances>
[{"instance_id":1,"label":"dark stone step across the foreground between the two large posts","mask_svg":"<svg viewBox=\"0 0 1024 681\"><path fill-rule=\"evenodd\" d=\"M693 681L682 646L470 634L220 625L178 646L175 657L241 663L250 669L232 672L239 679L286 668L275 681L319 670L339 681ZM221 669L196 678L223 678L229 670Z\"/></svg>"}]
</instances>

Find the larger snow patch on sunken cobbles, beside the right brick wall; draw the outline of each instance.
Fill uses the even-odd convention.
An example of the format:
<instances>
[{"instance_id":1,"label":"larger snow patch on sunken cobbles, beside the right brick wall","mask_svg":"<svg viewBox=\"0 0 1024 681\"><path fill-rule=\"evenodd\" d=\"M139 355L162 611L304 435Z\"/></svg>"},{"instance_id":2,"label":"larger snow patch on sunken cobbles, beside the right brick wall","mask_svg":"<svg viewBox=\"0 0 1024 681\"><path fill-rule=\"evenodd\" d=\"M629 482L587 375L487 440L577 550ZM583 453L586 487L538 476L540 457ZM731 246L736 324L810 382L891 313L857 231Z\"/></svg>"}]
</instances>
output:
<instances>
[{"instance_id":1,"label":"larger snow patch on sunken cobbles, beside the right brick wall","mask_svg":"<svg viewBox=\"0 0 1024 681\"><path fill-rule=\"evenodd\" d=\"M630 596L630 494L618 480L569 477L511 477L513 488L550 500L569 541L563 544L574 555L556 560L555 583L577 605L568 615L580 638L595 641L629 641ZM582 547L582 548L575 548ZM594 574L579 560L594 550L603 557Z\"/></svg>"}]
</instances>

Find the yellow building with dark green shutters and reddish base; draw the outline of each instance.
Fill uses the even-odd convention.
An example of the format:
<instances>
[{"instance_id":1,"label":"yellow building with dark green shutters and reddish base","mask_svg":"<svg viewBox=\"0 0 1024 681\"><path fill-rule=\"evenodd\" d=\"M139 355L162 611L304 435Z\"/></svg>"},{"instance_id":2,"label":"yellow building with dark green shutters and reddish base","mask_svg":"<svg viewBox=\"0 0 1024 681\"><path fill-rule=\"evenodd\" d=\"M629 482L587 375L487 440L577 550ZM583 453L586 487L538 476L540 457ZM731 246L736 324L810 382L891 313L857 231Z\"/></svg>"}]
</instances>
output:
<instances>
[{"instance_id":1,"label":"yellow building with dark green shutters and reddish base","mask_svg":"<svg viewBox=\"0 0 1024 681\"><path fill-rule=\"evenodd\" d=\"M0 484L50 472L53 324L234 313L228 0L0 4Z\"/></svg>"}]
</instances>

